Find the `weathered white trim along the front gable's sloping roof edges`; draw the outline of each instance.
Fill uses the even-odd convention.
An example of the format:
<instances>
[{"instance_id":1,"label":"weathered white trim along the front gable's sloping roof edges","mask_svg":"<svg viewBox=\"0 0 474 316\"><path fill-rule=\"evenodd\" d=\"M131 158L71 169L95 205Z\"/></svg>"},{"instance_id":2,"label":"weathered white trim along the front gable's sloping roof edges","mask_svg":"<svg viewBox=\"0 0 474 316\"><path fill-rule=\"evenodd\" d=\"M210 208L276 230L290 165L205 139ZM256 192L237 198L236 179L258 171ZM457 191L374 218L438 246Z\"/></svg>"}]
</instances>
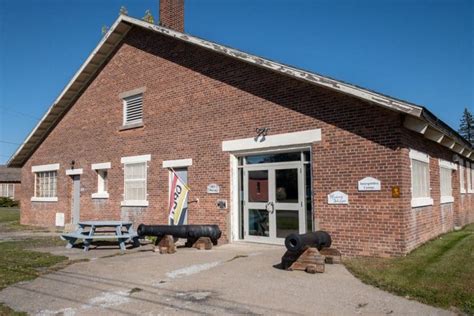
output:
<instances>
[{"instance_id":1,"label":"weathered white trim along the front gable's sloping roof edges","mask_svg":"<svg viewBox=\"0 0 474 316\"><path fill-rule=\"evenodd\" d=\"M91 78L94 77L97 70L103 65L104 61L108 58L108 56L115 49L118 43L121 42L123 37L127 34L127 32L132 26L139 26L164 34L166 36L174 37L181 41L192 43L194 45L233 57L235 59L239 59L241 61L253 64L261 68L265 68L280 74L284 74L289 77L293 77L302 81L306 81L321 87L339 91L341 93L345 93L353 97L369 101L373 104L385 107L390 110L406 113L414 117L421 117L423 113L422 107L412 103L397 100L367 89L363 89L345 82L337 81L302 69L270 61L268 59L254 56L233 48L206 41L188 34L180 33L165 27L150 24L148 22L135 19L126 15L120 15L115 21L115 23L111 26L107 34L99 42L97 47L86 59L81 68L73 76L68 85L62 90L61 94L55 100L53 105L51 105L51 107L48 109L41 121L28 135L22 145L20 145L15 154L9 159L7 163L8 166L22 166L25 163L25 161L30 157L31 153L42 142L49 130L55 126L57 120L73 104L77 95L82 92L82 89L87 84L89 84ZM86 71L88 67L92 69ZM84 78L81 79L81 76L84 76ZM75 85L77 85L78 87L74 87ZM68 97L68 93L72 93L72 95ZM458 151L461 150L461 152L466 152L463 147L457 149ZM472 152L471 149L468 150L468 155L472 158L474 152Z\"/></svg>"}]
</instances>

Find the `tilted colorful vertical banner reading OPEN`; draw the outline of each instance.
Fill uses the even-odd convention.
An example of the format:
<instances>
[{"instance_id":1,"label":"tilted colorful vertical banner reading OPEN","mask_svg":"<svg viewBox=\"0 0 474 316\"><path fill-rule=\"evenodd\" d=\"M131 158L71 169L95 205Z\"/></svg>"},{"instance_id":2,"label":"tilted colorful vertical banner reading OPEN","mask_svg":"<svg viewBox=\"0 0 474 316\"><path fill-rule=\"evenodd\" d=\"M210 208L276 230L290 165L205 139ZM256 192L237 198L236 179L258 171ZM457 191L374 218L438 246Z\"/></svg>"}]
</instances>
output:
<instances>
[{"instance_id":1,"label":"tilted colorful vertical banner reading OPEN","mask_svg":"<svg viewBox=\"0 0 474 316\"><path fill-rule=\"evenodd\" d=\"M171 190L170 190L170 225L182 225L186 218L187 208L184 208L184 202L188 196L189 187L180 177L171 169Z\"/></svg>"}]
</instances>

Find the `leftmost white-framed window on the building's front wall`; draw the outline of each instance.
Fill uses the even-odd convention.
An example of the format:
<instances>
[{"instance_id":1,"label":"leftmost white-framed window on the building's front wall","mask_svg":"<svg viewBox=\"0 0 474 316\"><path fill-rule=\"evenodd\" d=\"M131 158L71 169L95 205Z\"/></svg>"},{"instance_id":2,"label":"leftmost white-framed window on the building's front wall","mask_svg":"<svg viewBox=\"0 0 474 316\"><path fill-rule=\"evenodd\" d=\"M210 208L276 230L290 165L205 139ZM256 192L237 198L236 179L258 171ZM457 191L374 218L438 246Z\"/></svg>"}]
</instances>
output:
<instances>
[{"instance_id":1,"label":"leftmost white-framed window on the building's front wall","mask_svg":"<svg viewBox=\"0 0 474 316\"><path fill-rule=\"evenodd\" d=\"M33 166L35 174L34 196L31 201L56 202L58 200L58 170L59 164Z\"/></svg>"}]
</instances>

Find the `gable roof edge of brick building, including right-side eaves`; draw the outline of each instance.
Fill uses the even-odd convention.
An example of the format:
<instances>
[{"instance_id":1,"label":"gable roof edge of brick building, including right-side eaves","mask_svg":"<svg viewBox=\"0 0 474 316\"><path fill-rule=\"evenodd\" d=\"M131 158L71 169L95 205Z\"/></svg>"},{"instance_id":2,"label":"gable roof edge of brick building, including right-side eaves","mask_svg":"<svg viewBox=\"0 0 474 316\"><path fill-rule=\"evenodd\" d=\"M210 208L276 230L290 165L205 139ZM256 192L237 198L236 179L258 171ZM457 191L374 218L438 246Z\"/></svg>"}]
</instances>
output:
<instances>
[{"instance_id":1,"label":"gable roof edge of brick building, including right-side eaves","mask_svg":"<svg viewBox=\"0 0 474 316\"><path fill-rule=\"evenodd\" d=\"M210 42L189 34L177 32L159 25L120 15L110 30L105 34L97 47L92 51L84 64L79 68L71 81L62 90L60 95L49 107L41 121L35 126L26 140L8 161L8 166L21 167L38 148L49 132L56 126L63 115L74 104L80 94L85 90L101 66L107 61L117 45L123 40L128 31L133 27L140 27L176 38L211 51L230 56L232 58L265 68L316 86L338 91L372 104L406 114L404 126L410 130L423 134L426 138L448 147L454 152L474 159L474 148L462 138L455 130L443 123L426 108L407 101L399 100L387 95L358 87L343 81L335 80L313 72L298 69L269 59L251 55L227 46Z\"/></svg>"}]
</instances>

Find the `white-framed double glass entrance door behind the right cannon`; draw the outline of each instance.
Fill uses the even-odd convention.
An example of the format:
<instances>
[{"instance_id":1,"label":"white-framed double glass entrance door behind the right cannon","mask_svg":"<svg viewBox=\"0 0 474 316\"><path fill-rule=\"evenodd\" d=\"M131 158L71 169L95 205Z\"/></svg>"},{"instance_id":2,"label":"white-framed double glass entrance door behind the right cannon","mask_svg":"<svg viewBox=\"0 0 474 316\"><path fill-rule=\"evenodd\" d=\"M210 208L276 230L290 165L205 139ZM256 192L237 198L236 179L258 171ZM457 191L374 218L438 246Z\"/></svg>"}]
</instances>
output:
<instances>
[{"instance_id":1,"label":"white-framed double glass entrance door behind the right cannon","mask_svg":"<svg viewBox=\"0 0 474 316\"><path fill-rule=\"evenodd\" d=\"M301 162L244 168L244 239L282 244L306 232L304 168Z\"/></svg>"}]
</instances>

